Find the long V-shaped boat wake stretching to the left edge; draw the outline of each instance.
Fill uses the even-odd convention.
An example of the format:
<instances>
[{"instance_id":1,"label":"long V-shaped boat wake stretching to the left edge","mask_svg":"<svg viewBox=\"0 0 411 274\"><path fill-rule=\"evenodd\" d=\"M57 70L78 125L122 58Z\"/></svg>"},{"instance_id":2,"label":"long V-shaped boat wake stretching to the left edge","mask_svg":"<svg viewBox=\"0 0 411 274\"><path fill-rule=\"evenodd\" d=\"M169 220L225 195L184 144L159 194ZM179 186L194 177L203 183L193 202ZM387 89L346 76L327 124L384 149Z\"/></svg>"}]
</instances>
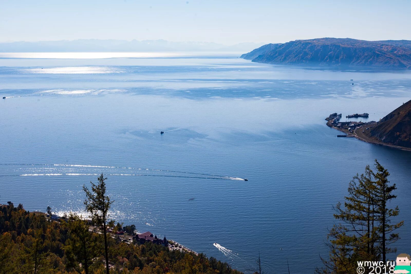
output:
<instances>
[{"instance_id":1,"label":"long V-shaped boat wake stretching to the left edge","mask_svg":"<svg viewBox=\"0 0 411 274\"><path fill-rule=\"evenodd\" d=\"M242 180L247 179L215 175L208 173L195 173L189 171L167 170L158 168L141 168L125 166L81 165L81 164L0 164L0 176L154 176L154 177L181 177L216 180Z\"/></svg>"}]
</instances>

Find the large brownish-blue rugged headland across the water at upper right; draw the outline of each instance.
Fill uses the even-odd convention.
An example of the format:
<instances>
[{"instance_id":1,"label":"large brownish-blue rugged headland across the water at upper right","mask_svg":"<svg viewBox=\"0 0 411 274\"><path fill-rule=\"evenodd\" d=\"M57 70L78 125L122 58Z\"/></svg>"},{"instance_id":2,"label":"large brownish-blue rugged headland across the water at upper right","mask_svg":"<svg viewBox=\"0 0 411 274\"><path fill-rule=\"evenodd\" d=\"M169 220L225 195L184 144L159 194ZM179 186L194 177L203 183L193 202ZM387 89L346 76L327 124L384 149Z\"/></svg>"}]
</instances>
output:
<instances>
[{"instance_id":1,"label":"large brownish-blue rugged headland across the water at upper right","mask_svg":"<svg viewBox=\"0 0 411 274\"><path fill-rule=\"evenodd\" d=\"M411 68L411 41L319 38L266 44L241 55L261 63Z\"/></svg>"}]
</instances>

